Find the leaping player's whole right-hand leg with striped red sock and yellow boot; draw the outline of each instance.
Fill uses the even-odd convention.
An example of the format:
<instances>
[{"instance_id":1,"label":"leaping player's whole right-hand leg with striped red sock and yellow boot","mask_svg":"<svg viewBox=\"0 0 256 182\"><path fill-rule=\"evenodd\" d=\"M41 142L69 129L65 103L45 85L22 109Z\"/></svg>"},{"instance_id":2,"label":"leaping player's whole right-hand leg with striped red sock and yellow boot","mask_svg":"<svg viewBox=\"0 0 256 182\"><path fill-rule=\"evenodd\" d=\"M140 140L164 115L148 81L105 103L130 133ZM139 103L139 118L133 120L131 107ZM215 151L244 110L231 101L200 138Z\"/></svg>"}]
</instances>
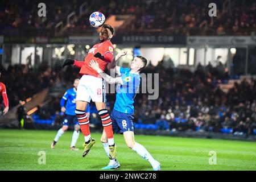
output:
<instances>
[{"instance_id":1,"label":"leaping player's whole right-hand leg with striped red sock and yellow boot","mask_svg":"<svg viewBox=\"0 0 256 182\"><path fill-rule=\"evenodd\" d=\"M109 158L115 159L117 156L117 148L115 147L115 143L114 143L113 127L112 127L112 121L111 121L109 112L106 109L105 102L95 102L95 105L97 107L98 114L101 117L101 122L105 130L106 137L108 138Z\"/></svg>"}]
</instances>

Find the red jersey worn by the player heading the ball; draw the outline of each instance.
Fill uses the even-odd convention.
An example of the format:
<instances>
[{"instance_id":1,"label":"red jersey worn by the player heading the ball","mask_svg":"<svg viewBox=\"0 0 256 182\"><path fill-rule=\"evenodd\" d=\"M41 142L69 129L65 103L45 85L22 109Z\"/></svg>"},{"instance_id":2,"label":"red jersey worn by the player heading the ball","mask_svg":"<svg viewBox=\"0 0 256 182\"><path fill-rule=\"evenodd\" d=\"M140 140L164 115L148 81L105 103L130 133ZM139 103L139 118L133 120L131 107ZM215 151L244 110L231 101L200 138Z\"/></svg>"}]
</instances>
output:
<instances>
[{"instance_id":1,"label":"red jersey worn by the player heading the ball","mask_svg":"<svg viewBox=\"0 0 256 182\"><path fill-rule=\"evenodd\" d=\"M104 60L101 60L100 58L94 57L94 55L99 52L102 56L104 56ZM98 66L102 71L105 70L108 63L111 63L113 60L113 53L114 53L114 47L113 44L108 40L102 43L95 44L90 51L88 52L88 55L85 57L84 62L81 61L75 61L74 65L76 67L80 67L80 75L92 75L95 77L99 77L99 74L97 71L95 71L93 68L89 67L90 60L97 61ZM79 63L80 62L80 63Z\"/></svg>"}]
</instances>

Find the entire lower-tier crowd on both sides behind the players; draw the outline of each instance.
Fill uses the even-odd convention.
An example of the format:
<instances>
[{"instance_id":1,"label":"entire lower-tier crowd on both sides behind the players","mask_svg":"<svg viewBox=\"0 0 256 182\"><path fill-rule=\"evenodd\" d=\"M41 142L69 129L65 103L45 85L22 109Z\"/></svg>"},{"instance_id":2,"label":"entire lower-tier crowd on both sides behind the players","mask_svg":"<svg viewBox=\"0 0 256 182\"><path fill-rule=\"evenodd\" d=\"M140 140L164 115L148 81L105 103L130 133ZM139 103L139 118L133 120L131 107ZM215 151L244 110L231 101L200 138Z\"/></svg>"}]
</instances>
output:
<instances>
[{"instance_id":1,"label":"entire lower-tier crowd on both sides behind the players","mask_svg":"<svg viewBox=\"0 0 256 182\"><path fill-rule=\"evenodd\" d=\"M77 68L62 69L61 65L49 68L44 63L36 71L29 70L27 65L0 67L0 71L1 81L7 85L10 109L44 88L70 88L73 80L80 78ZM256 129L256 79L236 83L225 93L214 80L227 79L229 75L225 68L218 66L198 65L192 73L166 67L160 61L156 67L149 64L144 73L159 73L159 98L148 100L147 94L137 94L134 122L156 124L160 130L167 131L232 129L233 133L249 135ZM55 122L61 123L61 97L61 94L52 96L51 102L36 114L42 119L55 115ZM115 94L108 94L109 110L114 101ZM97 115L93 114L94 107L91 105L93 123L100 125Z\"/></svg>"}]
</instances>

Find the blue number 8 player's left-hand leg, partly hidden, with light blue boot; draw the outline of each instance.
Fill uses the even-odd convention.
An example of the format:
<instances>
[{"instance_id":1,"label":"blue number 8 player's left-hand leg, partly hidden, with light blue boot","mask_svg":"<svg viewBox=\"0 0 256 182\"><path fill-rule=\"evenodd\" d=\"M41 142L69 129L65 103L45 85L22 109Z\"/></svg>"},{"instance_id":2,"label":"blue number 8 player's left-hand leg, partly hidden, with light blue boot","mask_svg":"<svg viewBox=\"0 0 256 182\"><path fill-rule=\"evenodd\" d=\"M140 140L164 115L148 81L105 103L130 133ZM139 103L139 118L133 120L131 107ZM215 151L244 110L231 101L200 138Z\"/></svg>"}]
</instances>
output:
<instances>
[{"instance_id":1,"label":"blue number 8 player's left-hand leg, partly hidden, with light blue boot","mask_svg":"<svg viewBox=\"0 0 256 182\"><path fill-rule=\"evenodd\" d=\"M101 143L104 147L106 155L109 157L109 143L108 143L108 138L106 136L105 130L103 130L102 135L101 135ZM119 167L120 167L120 164L118 163L117 158L115 158L115 159L110 159L108 166L106 166L102 169L117 169Z\"/></svg>"}]
</instances>

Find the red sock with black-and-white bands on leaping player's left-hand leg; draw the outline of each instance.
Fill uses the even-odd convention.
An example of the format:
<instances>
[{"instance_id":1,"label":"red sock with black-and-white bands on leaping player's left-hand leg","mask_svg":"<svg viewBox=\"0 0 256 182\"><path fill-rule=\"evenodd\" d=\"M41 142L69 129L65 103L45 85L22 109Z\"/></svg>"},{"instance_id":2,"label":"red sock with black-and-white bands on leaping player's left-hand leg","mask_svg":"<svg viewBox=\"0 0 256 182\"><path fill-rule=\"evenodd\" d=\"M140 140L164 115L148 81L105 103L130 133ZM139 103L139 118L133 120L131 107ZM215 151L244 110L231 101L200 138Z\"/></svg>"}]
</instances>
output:
<instances>
[{"instance_id":1,"label":"red sock with black-and-white bands on leaping player's left-hand leg","mask_svg":"<svg viewBox=\"0 0 256 182\"><path fill-rule=\"evenodd\" d=\"M90 129L89 129L89 119L85 113L85 111L76 109L76 117L79 121L80 129L82 131L82 134L84 136L90 135Z\"/></svg>"}]
</instances>

